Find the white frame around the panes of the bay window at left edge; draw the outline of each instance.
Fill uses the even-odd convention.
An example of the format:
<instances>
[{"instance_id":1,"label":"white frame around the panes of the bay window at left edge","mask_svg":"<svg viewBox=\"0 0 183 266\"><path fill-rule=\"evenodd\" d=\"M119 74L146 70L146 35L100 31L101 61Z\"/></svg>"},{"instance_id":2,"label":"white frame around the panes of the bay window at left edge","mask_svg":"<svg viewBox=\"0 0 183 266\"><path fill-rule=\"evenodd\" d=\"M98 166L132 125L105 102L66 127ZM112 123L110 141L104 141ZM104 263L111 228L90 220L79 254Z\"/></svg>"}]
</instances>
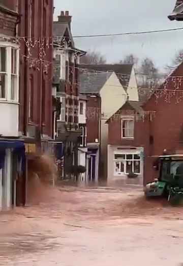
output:
<instances>
[{"instance_id":1,"label":"white frame around the panes of the bay window at left edge","mask_svg":"<svg viewBox=\"0 0 183 266\"><path fill-rule=\"evenodd\" d=\"M5 84L5 98L0 98L1 101L16 102L19 101L19 47L16 44L9 42L0 42L0 47L6 48L6 84ZM12 73L12 49L16 51L16 73ZM15 98L12 97L12 75L16 78Z\"/></svg>"}]
</instances>

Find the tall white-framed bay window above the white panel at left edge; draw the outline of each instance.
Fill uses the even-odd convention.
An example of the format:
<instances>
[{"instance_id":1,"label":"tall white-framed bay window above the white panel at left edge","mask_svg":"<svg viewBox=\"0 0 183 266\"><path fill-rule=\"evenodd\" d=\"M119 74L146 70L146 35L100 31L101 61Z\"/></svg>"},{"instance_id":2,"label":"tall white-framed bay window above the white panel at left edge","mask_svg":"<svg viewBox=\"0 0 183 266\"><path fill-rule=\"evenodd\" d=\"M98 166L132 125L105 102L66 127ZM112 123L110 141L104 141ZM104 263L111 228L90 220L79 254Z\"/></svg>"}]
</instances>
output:
<instances>
[{"instance_id":1,"label":"tall white-framed bay window above the white panel at left edge","mask_svg":"<svg viewBox=\"0 0 183 266\"><path fill-rule=\"evenodd\" d=\"M19 50L0 45L0 99L18 102Z\"/></svg>"}]
</instances>

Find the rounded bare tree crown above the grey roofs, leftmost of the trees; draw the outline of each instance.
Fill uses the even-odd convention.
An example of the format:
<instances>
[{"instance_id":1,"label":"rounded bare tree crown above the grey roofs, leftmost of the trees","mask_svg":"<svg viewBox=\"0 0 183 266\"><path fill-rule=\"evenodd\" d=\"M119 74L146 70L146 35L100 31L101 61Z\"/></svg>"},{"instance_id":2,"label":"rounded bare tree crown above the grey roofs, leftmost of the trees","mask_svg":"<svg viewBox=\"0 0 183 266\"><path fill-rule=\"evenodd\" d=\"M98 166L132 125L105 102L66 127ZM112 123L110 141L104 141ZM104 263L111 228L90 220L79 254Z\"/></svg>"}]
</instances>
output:
<instances>
[{"instance_id":1,"label":"rounded bare tree crown above the grey roofs, leftmost of the trees","mask_svg":"<svg viewBox=\"0 0 183 266\"><path fill-rule=\"evenodd\" d=\"M106 58L103 55L101 55L100 52L97 51L89 50L85 56L81 57L81 64L99 65L105 63L106 63Z\"/></svg>"}]
</instances>

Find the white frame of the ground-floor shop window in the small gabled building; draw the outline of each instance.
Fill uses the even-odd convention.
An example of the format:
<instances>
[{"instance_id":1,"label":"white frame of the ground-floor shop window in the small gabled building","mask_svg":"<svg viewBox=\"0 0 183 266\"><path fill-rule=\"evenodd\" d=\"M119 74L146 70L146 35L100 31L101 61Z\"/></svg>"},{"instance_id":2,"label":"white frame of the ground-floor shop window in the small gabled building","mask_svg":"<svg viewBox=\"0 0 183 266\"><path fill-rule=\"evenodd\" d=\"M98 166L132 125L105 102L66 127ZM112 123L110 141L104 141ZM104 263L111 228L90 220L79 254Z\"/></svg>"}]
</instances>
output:
<instances>
[{"instance_id":1,"label":"white frame of the ground-floor shop window in the small gabled building","mask_svg":"<svg viewBox=\"0 0 183 266\"><path fill-rule=\"evenodd\" d=\"M115 159L115 155L120 154L120 155L125 155L125 158L119 158L119 159ZM132 155L132 159L127 159L127 155ZM139 155L139 159L135 159L134 155ZM140 156L140 152L139 153L114 153L114 175L118 176L118 175L128 175L127 172L127 163L128 162L132 162L132 172L134 172L134 163L135 162L139 162L139 166L140 166L140 172L135 173L140 175L142 173L142 167L141 167L141 156ZM115 167L116 167L116 163L123 163L124 164L124 172L116 172Z\"/></svg>"}]
</instances>

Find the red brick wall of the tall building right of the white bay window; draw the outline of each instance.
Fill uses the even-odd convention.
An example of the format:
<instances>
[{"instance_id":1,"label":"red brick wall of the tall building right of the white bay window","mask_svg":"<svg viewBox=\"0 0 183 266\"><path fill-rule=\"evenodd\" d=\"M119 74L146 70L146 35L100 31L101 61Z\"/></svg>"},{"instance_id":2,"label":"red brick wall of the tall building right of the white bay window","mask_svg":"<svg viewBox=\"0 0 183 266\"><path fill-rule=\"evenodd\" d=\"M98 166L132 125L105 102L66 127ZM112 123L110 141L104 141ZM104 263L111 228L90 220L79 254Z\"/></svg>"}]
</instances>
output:
<instances>
[{"instance_id":1,"label":"red brick wall of the tall building right of the white bay window","mask_svg":"<svg viewBox=\"0 0 183 266\"><path fill-rule=\"evenodd\" d=\"M33 4L32 16L30 5ZM19 1L18 12L21 14L19 36L32 36L32 41L40 37L52 36L53 1ZM32 17L32 33L30 33L30 19ZM47 39L46 39L47 40ZM51 41L51 39L50 39ZM52 62L52 46L45 45L46 55L44 62ZM31 50L32 59L40 58L39 45ZM21 41L20 52L20 127L19 130L26 134L30 121L28 119L29 80L33 77L33 121L31 124L39 126L42 134L52 136L52 64L46 68L45 64L33 64L27 60L27 48Z\"/></svg>"}]
</instances>

